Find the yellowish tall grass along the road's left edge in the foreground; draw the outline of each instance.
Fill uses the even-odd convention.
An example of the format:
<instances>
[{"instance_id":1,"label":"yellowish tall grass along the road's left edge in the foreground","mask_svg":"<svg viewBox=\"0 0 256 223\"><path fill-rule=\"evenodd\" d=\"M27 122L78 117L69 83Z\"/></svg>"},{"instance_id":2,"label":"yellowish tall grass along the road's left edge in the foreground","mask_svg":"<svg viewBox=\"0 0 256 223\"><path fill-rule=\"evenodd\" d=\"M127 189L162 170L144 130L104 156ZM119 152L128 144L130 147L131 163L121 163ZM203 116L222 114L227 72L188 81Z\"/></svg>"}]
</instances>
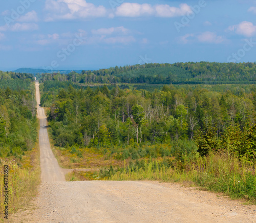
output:
<instances>
[{"instance_id":1,"label":"yellowish tall grass along the road's left edge in the foreground","mask_svg":"<svg viewBox=\"0 0 256 223\"><path fill-rule=\"evenodd\" d=\"M0 163L0 220L4 219L4 166L8 165L8 216L18 209L26 208L37 193L40 183L39 150L34 148L23 156L17 165L15 160L1 160ZM8 217L8 218L9 218Z\"/></svg>"}]
</instances>

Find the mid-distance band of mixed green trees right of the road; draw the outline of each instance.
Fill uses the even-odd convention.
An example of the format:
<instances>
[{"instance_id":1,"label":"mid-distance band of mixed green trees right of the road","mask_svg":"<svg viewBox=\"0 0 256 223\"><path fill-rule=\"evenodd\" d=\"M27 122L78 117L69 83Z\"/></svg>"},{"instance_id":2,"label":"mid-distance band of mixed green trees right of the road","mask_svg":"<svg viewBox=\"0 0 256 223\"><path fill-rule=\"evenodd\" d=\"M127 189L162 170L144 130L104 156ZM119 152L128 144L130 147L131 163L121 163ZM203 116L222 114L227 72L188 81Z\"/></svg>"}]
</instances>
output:
<instances>
[{"instance_id":1,"label":"mid-distance band of mixed green trees right of the road","mask_svg":"<svg viewBox=\"0 0 256 223\"><path fill-rule=\"evenodd\" d=\"M148 92L70 85L46 103L52 104L48 120L57 146L154 144L193 139L206 129L205 120L216 127L217 138L229 126L243 131L252 124L256 105L255 87L247 88L216 92L170 85Z\"/></svg>"}]
</instances>

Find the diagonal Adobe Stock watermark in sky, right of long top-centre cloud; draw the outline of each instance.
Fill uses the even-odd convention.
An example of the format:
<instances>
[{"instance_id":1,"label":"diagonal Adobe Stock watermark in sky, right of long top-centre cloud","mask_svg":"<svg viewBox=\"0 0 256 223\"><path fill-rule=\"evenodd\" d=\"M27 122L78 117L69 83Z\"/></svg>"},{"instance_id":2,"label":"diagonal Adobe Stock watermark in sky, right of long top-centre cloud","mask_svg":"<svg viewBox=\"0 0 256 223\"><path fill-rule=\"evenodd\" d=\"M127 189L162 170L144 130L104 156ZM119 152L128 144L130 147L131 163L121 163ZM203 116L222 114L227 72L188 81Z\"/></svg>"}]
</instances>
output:
<instances>
[{"instance_id":1,"label":"diagonal Adobe Stock watermark in sky, right of long top-centre cloud","mask_svg":"<svg viewBox=\"0 0 256 223\"><path fill-rule=\"evenodd\" d=\"M194 19L197 14L200 13L201 8L206 7L206 5L207 4L204 0L200 0L198 2L198 5L195 5L194 7L193 6L190 7L191 11L187 12L186 15L184 15L181 18L181 23L179 23L178 21L175 21L174 26L177 29L178 33L180 32L180 29L186 27L186 25L188 25L190 21Z\"/></svg>"}]
</instances>

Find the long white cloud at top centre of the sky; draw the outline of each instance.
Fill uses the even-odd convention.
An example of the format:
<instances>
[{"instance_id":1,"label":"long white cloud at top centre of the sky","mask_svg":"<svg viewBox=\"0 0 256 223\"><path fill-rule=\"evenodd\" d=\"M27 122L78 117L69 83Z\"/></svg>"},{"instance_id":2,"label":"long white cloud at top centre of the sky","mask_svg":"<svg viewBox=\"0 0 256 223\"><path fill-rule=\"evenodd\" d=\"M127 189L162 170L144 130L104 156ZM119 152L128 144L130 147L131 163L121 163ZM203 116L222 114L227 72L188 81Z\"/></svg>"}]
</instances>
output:
<instances>
[{"instance_id":1,"label":"long white cloud at top centre of the sky","mask_svg":"<svg viewBox=\"0 0 256 223\"><path fill-rule=\"evenodd\" d=\"M116 16L122 17L140 17L140 16L157 16L157 17L176 17L183 16L191 12L187 4L181 4L180 8L170 7L169 5L123 3L116 8Z\"/></svg>"}]
</instances>

